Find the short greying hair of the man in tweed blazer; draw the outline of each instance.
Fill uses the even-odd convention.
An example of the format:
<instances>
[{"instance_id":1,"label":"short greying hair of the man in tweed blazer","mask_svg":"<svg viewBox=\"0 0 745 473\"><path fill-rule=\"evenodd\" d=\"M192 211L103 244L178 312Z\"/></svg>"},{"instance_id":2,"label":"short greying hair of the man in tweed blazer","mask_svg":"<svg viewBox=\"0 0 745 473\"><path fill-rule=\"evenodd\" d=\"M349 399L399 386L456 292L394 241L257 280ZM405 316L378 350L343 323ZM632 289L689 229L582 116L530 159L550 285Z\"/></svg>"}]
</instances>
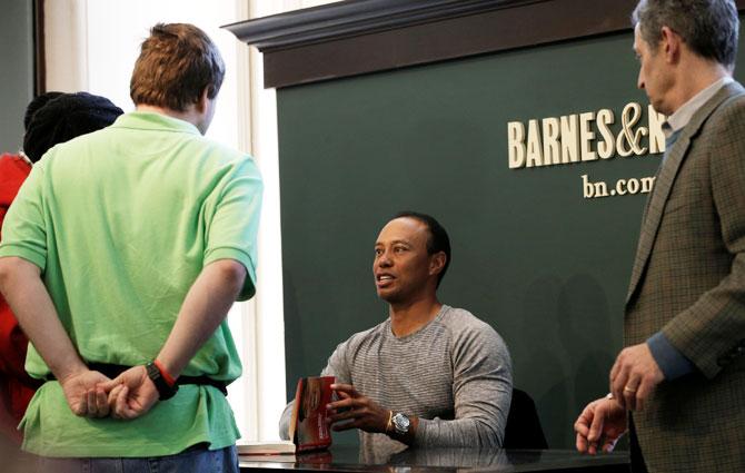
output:
<instances>
[{"instance_id":1,"label":"short greying hair of the man in tweed blazer","mask_svg":"<svg viewBox=\"0 0 745 473\"><path fill-rule=\"evenodd\" d=\"M735 65L739 19L734 0L640 0L632 23L639 24L653 51L668 27L698 56L728 68Z\"/></svg>"}]
</instances>

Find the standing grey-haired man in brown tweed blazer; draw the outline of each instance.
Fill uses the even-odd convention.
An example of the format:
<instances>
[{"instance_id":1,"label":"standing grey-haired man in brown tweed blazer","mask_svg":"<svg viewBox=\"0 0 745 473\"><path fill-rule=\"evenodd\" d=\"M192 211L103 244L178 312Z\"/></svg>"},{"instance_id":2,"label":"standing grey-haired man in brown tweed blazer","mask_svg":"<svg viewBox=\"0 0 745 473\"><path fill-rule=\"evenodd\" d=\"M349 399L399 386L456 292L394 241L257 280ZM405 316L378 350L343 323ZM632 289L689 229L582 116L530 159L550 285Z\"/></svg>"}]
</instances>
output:
<instances>
[{"instance_id":1,"label":"standing grey-haired man in brown tweed blazer","mask_svg":"<svg viewBox=\"0 0 745 473\"><path fill-rule=\"evenodd\" d=\"M745 471L745 90L733 0L642 0L638 87L668 116L610 394L577 449L630 431L634 471ZM627 425L628 421L628 425Z\"/></svg>"}]
</instances>

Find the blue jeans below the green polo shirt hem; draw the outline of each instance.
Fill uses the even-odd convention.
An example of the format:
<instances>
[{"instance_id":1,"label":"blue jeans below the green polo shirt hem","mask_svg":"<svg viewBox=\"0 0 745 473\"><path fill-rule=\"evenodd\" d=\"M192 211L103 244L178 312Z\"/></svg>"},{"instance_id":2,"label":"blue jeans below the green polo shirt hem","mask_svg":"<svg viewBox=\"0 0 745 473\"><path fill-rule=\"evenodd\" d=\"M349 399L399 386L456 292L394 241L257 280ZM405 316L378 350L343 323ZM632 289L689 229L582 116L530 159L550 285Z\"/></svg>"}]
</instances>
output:
<instances>
[{"instance_id":1,"label":"blue jeans below the green polo shirt hem","mask_svg":"<svg viewBox=\"0 0 745 473\"><path fill-rule=\"evenodd\" d=\"M51 473L239 473L236 446L187 449L150 459L38 459L39 472Z\"/></svg>"}]
</instances>

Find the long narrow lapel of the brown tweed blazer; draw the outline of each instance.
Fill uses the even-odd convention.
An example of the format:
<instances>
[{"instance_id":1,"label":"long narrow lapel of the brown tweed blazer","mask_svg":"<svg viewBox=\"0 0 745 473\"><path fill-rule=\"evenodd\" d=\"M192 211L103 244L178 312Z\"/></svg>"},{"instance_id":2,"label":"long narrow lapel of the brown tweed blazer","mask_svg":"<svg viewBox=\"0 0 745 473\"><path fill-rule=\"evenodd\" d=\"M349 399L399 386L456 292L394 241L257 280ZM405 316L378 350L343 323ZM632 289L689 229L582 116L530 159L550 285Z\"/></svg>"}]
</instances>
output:
<instances>
[{"instance_id":1,"label":"long narrow lapel of the brown tweed blazer","mask_svg":"<svg viewBox=\"0 0 745 473\"><path fill-rule=\"evenodd\" d=\"M665 204L669 197L675 177L678 169L685 159L691 142L697 137L703 124L725 100L736 95L743 93L743 87L737 82L731 82L719 89L714 97L704 104L692 117L688 125L681 132L681 137L675 141L670 148L665 162L657 171L657 179L655 179L654 190L647 203L647 208L642 221L642 231L639 233L639 243L636 248L636 258L634 259L634 268L632 269L632 280L626 293L626 304L632 299L639 280L646 269L649 254L657 238L657 230L665 211Z\"/></svg>"}]
</instances>

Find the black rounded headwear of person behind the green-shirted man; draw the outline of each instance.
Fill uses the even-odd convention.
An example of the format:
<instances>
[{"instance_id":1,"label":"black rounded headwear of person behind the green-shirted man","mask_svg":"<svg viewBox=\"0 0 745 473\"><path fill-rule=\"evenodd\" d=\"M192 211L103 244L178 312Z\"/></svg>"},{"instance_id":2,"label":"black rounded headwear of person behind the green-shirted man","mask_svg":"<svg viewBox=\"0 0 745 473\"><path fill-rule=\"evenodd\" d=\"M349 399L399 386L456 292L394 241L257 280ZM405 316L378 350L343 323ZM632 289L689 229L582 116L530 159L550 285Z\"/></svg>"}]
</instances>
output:
<instances>
[{"instance_id":1,"label":"black rounded headwear of person behind the green-shirted man","mask_svg":"<svg viewBox=\"0 0 745 473\"><path fill-rule=\"evenodd\" d=\"M106 128L123 111L106 97L88 92L60 93L31 117L23 154L36 162L52 146Z\"/></svg>"}]
</instances>

